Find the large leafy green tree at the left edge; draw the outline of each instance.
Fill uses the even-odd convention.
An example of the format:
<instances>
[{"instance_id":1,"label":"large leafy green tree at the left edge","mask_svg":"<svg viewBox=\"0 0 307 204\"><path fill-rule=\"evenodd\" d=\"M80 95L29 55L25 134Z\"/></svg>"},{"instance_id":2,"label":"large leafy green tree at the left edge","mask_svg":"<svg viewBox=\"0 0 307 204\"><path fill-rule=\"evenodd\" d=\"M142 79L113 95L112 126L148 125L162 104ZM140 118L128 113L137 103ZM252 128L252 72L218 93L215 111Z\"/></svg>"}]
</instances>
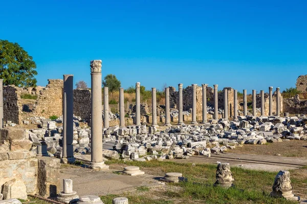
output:
<instances>
[{"instance_id":1,"label":"large leafy green tree at the left edge","mask_svg":"<svg viewBox=\"0 0 307 204\"><path fill-rule=\"evenodd\" d=\"M0 39L0 79L4 85L36 86L36 64L18 43Z\"/></svg>"}]
</instances>

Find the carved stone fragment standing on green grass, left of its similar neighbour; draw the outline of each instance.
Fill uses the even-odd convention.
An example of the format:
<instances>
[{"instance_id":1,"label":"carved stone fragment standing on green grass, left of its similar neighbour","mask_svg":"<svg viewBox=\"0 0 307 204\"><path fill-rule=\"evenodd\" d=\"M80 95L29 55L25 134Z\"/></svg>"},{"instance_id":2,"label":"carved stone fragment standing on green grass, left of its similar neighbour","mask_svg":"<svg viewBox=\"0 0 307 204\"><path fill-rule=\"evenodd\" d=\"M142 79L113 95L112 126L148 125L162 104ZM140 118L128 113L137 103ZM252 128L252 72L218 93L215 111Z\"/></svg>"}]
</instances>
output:
<instances>
[{"instance_id":1,"label":"carved stone fragment standing on green grass, left of its similar neighbour","mask_svg":"<svg viewBox=\"0 0 307 204\"><path fill-rule=\"evenodd\" d=\"M230 171L229 163L220 163L216 167L216 182L214 186L221 186L223 188L229 188L232 186L232 173Z\"/></svg>"}]
</instances>

